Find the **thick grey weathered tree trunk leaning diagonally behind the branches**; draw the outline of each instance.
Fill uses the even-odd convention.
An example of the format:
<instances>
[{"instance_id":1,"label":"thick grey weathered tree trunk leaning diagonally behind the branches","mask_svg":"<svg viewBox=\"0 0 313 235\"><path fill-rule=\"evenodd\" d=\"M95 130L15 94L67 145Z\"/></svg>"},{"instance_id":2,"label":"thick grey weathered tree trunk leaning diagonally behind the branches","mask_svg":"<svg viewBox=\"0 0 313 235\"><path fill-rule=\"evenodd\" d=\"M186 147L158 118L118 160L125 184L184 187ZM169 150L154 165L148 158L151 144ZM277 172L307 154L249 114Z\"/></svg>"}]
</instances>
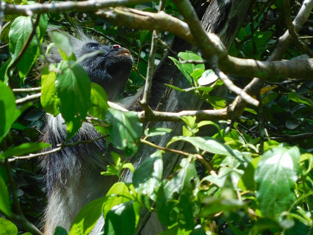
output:
<instances>
[{"instance_id":1,"label":"thick grey weathered tree trunk leaning diagonally behind the branches","mask_svg":"<svg viewBox=\"0 0 313 235\"><path fill-rule=\"evenodd\" d=\"M209 2L209 3L208 3ZM211 1L198 1L195 9L198 16L201 19L201 24L207 32L216 33L224 43L226 48L229 48L235 39L241 25L245 21L248 13L249 6L252 0L211 0ZM180 51L190 50L192 47L181 42L181 40L174 41L175 48L181 48ZM180 45L178 45L180 44ZM183 45L181 45L183 44ZM168 66L165 63L160 65ZM169 74L172 75L173 85L179 88L190 87L187 79L181 74L181 72L172 65ZM167 69L166 69L167 70ZM202 101L198 99L194 94L182 93L174 89L168 89L164 97L162 98L159 111L164 112L179 112L182 110L199 110L201 108ZM172 133L164 136L156 136L149 138L149 141L154 142L157 145L165 146L168 141L171 140L173 136L180 136L182 132L183 124L181 122L154 122L149 123L149 128L170 128L173 130ZM171 145L173 149L183 149L183 141L176 141ZM152 153L156 151L146 144L142 144L138 150L138 153L132 158L131 162L134 167L138 167L145 159L148 158ZM167 178L172 172L179 160L179 155L174 153L163 154L163 177ZM132 182L133 173L127 171L124 174L126 182ZM138 225L138 231L142 230L147 221L150 218L150 212L143 210L140 214L140 220ZM102 220L102 222L100 221ZM149 224L157 223L156 219L150 219L147 223L148 229L143 229L143 234L156 234L159 231L152 232L151 226ZM96 234L101 231L103 227L103 218L98 220L98 223L92 234ZM157 230L157 229L156 229Z\"/></svg>"}]
</instances>

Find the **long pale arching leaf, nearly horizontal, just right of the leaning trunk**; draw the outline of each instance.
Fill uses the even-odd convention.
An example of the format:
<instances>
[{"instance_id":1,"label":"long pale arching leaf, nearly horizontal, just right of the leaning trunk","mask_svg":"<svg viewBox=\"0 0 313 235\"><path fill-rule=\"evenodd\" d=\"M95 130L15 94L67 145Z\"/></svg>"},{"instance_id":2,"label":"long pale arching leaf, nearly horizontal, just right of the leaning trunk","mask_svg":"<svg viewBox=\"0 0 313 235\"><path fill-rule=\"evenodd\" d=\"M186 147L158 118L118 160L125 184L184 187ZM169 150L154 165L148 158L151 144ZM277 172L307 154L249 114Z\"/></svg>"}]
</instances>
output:
<instances>
[{"instance_id":1,"label":"long pale arching leaf, nearly horizontal, just right of the leaning trunk","mask_svg":"<svg viewBox=\"0 0 313 235\"><path fill-rule=\"evenodd\" d=\"M225 155L225 156L233 156L238 159L242 157L242 153L237 150L233 150L227 145L211 138L211 137L187 137L187 136L176 136L173 137L171 141L167 143L167 147L175 142L175 141L187 141L194 145L196 148L200 148L204 151Z\"/></svg>"}]
</instances>

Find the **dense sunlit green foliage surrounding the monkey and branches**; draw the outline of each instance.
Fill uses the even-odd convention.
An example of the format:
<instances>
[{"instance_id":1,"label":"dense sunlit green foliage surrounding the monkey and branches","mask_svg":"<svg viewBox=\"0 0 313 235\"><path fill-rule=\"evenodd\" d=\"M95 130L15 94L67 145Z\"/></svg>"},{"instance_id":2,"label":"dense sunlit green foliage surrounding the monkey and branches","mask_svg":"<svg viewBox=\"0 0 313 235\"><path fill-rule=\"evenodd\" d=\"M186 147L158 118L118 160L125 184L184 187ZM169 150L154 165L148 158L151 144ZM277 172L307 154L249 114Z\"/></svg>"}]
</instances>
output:
<instances>
[{"instance_id":1,"label":"dense sunlit green foliage surrounding the monkey and branches","mask_svg":"<svg viewBox=\"0 0 313 235\"><path fill-rule=\"evenodd\" d=\"M6 2L32 4L26 0ZM291 2L291 15L296 16L301 2ZM157 12L159 2L133 7ZM165 12L181 18L171 1L166 1ZM88 74L75 62L69 41L62 34L51 32L51 28L74 33L73 26L78 24L104 43L118 42L129 48L136 62L124 96L133 94L144 83L152 32L132 30L127 25L117 27L88 12L41 14L40 17L5 15L3 20L0 36L0 234L30 231L29 222L39 226L46 199L37 155L32 154L49 146L37 142L45 112L62 114L68 139L89 115L88 121L96 124L105 137L109 134L109 140L124 151L124 157L134 156L139 144L156 148L136 169L117 153L112 153L114 164L109 165L103 175L116 175L120 181L107 196L82 209L70 235L88 234L102 213L105 234L134 234L142 208L156 211L167 228L163 235L312 234L312 80L273 77L261 90L259 107L247 106L236 120L213 122L181 118L184 122L181 135L161 147L149 138L169 135L171 129L143 130L136 112L110 108L104 90L91 83ZM307 50L312 53L312 15L310 20L300 31L306 48L289 47L284 60L311 56L307 55ZM265 61L286 29L283 0L254 2L229 54ZM34 36L28 43L31 33ZM161 32L159 38L163 44L159 44L157 50L158 60L165 53L164 45L170 43L174 35ZM51 41L64 60L43 69L48 62L45 49ZM207 70L198 54L180 52L171 59L188 79L190 87L168 85L169 89L193 93L217 110L235 98L230 92L220 95L223 82L212 70ZM186 60L195 63L181 63ZM234 76L232 80L237 86L245 87L250 78ZM74 86L69 87L69 83ZM36 87L41 89L31 93L13 90ZM39 91L40 97L36 95ZM34 95L34 99L27 94ZM144 138L140 140L143 133ZM188 142L192 146L190 152L171 149L176 141ZM66 144L63 147L67 147ZM163 179L162 157L168 151L178 151L182 158L175 172ZM126 168L134 172L132 183L123 179ZM67 233L59 228L56 234Z\"/></svg>"}]
</instances>

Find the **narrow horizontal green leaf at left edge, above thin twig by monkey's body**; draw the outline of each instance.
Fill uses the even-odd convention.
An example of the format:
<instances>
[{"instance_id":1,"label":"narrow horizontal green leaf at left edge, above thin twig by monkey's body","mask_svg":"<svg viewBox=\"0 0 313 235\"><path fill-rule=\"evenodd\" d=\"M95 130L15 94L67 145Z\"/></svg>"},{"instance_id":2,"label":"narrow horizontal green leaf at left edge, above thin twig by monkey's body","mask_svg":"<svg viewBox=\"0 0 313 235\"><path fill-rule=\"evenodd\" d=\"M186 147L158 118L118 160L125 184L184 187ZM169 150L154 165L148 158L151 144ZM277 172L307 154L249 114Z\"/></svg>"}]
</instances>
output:
<instances>
[{"instance_id":1,"label":"narrow horizontal green leaf at left edge, above thin twig by monkey's body","mask_svg":"<svg viewBox=\"0 0 313 235\"><path fill-rule=\"evenodd\" d=\"M21 145L12 147L0 154L0 160L12 157L12 156L22 156L29 153L38 152L43 148L50 147L49 143L22 143Z\"/></svg>"}]
</instances>

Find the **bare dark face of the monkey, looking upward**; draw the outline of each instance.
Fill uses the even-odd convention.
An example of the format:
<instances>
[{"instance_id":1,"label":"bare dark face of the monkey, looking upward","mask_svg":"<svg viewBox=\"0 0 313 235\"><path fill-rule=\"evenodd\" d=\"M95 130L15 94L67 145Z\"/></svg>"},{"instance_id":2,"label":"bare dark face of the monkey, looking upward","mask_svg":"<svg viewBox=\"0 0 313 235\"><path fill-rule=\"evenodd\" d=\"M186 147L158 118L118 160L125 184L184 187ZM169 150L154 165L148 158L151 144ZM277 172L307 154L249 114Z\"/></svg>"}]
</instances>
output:
<instances>
[{"instance_id":1,"label":"bare dark face of the monkey, looking upward","mask_svg":"<svg viewBox=\"0 0 313 235\"><path fill-rule=\"evenodd\" d=\"M133 58L126 48L119 45L103 46L96 42L86 43L78 57L93 51L101 53L83 60L81 66L87 71L92 82L104 88L108 99L114 100L125 88Z\"/></svg>"}]
</instances>

